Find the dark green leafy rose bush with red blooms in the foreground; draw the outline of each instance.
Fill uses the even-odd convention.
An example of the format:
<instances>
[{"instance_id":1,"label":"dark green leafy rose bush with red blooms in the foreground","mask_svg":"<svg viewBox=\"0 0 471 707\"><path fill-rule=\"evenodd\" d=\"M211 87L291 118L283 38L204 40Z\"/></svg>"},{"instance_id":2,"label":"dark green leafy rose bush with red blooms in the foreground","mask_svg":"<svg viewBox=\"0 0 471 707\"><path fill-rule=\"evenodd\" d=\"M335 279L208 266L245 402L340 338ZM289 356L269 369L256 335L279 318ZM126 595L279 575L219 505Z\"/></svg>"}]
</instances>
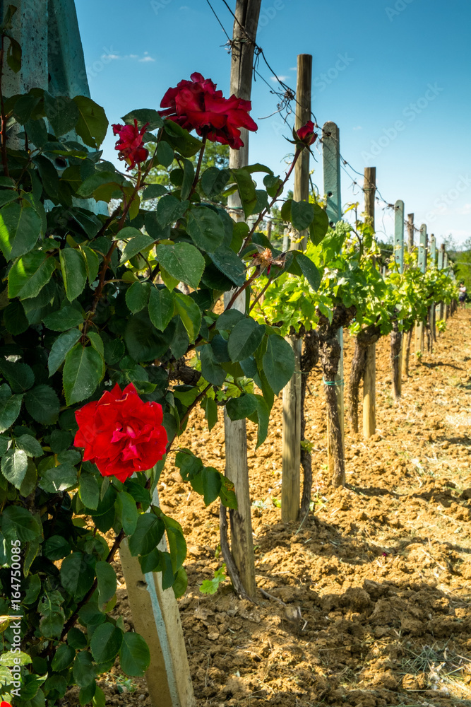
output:
<instances>
[{"instance_id":1,"label":"dark green leafy rose bush with red blooms in the foreground","mask_svg":"<svg viewBox=\"0 0 471 707\"><path fill-rule=\"evenodd\" d=\"M5 56L20 69L18 51ZM207 100L213 84L198 82ZM194 127L237 144L248 105L228 99L223 123L225 99L214 93L214 124L206 115ZM201 406L209 428L222 407L231 419L248 416L260 445L274 396L294 370L277 327L256 322L249 308L217 314L216 303L226 291L232 301L250 293L258 250L272 251L272 279L304 272L316 286L319 277L301 253L276 264L257 231L285 183L270 168L201 174L201 160L195 168L189 158L204 140L140 109L115 124L131 168L121 173L102 158L108 121L90 98L32 88L1 96L0 105L0 614L20 617L21 634L18 681L9 653L17 629L10 619L0 626L0 690L16 707L44 707L76 684L81 704L101 707L97 677L117 657L129 675L149 664L143 639L109 613L122 539L143 572L162 573L176 595L186 588L184 534L154 502L166 459L207 505L237 506L220 470L174 450L191 412ZM174 163L169 187L150 183L153 167ZM231 192L256 226L213 204ZM311 209L291 208L304 221ZM157 547L164 537L165 550ZM21 578L12 583L18 552Z\"/></svg>"}]
</instances>

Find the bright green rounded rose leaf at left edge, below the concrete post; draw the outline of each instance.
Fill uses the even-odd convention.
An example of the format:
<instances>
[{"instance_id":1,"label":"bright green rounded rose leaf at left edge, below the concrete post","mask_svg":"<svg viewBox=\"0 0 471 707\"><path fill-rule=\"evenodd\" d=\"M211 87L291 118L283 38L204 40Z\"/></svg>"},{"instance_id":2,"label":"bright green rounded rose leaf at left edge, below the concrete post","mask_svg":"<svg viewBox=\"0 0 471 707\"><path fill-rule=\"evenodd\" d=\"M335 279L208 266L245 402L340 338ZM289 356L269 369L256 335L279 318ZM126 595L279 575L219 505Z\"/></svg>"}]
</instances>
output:
<instances>
[{"instance_id":1,"label":"bright green rounded rose leaf at left edge, below the concrete post","mask_svg":"<svg viewBox=\"0 0 471 707\"><path fill-rule=\"evenodd\" d=\"M6 260L30 252L40 236L41 227L41 217L28 201L3 206L0 209L0 248Z\"/></svg>"}]
</instances>

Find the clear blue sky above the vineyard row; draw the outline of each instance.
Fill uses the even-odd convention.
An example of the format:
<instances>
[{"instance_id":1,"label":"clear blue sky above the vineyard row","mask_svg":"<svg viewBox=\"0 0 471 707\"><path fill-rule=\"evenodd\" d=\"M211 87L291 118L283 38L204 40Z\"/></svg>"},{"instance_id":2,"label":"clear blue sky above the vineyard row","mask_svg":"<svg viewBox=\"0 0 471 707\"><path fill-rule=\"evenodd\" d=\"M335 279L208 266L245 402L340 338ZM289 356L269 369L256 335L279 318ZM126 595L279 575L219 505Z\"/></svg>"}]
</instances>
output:
<instances>
[{"instance_id":1,"label":"clear blue sky above the vineyard row","mask_svg":"<svg viewBox=\"0 0 471 707\"><path fill-rule=\"evenodd\" d=\"M211 0L232 35L232 16ZM235 7L235 0L228 0ZM76 0L92 98L117 122L158 108L165 90L193 71L228 95L230 58L206 0ZM364 167L376 167L388 202L403 199L415 224L439 243L471 237L469 0L262 0L257 43L273 71L296 87L297 54L313 55L313 111L340 128L342 202L360 201ZM273 73L260 73L277 88ZM252 91L250 161L282 173L290 129L278 98L257 78ZM109 131L105 156L114 158ZM311 163L322 189L322 160ZM353 169L352 169L353 168ZM362 206L361 206L362 208ZM376 204L376 230L392 233L390 209Z\"/></svg>"}]
</instances>

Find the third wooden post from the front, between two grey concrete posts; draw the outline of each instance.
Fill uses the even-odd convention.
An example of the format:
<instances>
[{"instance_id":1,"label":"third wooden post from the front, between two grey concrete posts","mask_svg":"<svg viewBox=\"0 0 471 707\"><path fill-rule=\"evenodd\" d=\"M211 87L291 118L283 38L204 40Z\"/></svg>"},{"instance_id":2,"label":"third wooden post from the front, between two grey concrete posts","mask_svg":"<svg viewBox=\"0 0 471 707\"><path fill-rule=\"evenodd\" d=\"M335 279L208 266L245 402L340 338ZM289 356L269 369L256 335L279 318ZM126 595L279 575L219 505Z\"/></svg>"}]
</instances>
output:
<instances>
[{"instance_id":1,"label":"third wooden post from the front, between two grey concrete posts","mask_svg":"<svg viewBox=\"0 0 471 707\"><path fill-rule=\"evenodd\" d=\"M376 192L376 167L364 169L364 211L374 230L374 197ZM376 432L376 344L366 349L363 377L363 436L368 439Z\"/></svg>"}]
</instances>

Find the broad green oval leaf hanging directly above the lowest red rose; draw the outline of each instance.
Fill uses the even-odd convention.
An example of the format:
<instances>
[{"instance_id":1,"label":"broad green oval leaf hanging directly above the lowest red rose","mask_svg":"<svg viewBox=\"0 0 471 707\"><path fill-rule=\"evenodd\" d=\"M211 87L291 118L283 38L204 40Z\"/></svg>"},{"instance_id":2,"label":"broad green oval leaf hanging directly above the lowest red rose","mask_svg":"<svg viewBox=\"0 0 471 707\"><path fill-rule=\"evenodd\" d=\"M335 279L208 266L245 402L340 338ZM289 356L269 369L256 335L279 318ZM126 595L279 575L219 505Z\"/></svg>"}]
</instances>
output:
<instances>
[{"instance_id":1,"label":"broad green oval leaf hanging directly above the lowest red rose","mask_svg":"<svg viewBox=\"0 0 471 707\"><path fill-rule=\"evenodd\" d=\"M95 392L97 385L105 375L105 361L91 346L81 344L71 349L66 355L63 380L66 402L73 405L81 402Z\"/></svg>"}]
</instances>

